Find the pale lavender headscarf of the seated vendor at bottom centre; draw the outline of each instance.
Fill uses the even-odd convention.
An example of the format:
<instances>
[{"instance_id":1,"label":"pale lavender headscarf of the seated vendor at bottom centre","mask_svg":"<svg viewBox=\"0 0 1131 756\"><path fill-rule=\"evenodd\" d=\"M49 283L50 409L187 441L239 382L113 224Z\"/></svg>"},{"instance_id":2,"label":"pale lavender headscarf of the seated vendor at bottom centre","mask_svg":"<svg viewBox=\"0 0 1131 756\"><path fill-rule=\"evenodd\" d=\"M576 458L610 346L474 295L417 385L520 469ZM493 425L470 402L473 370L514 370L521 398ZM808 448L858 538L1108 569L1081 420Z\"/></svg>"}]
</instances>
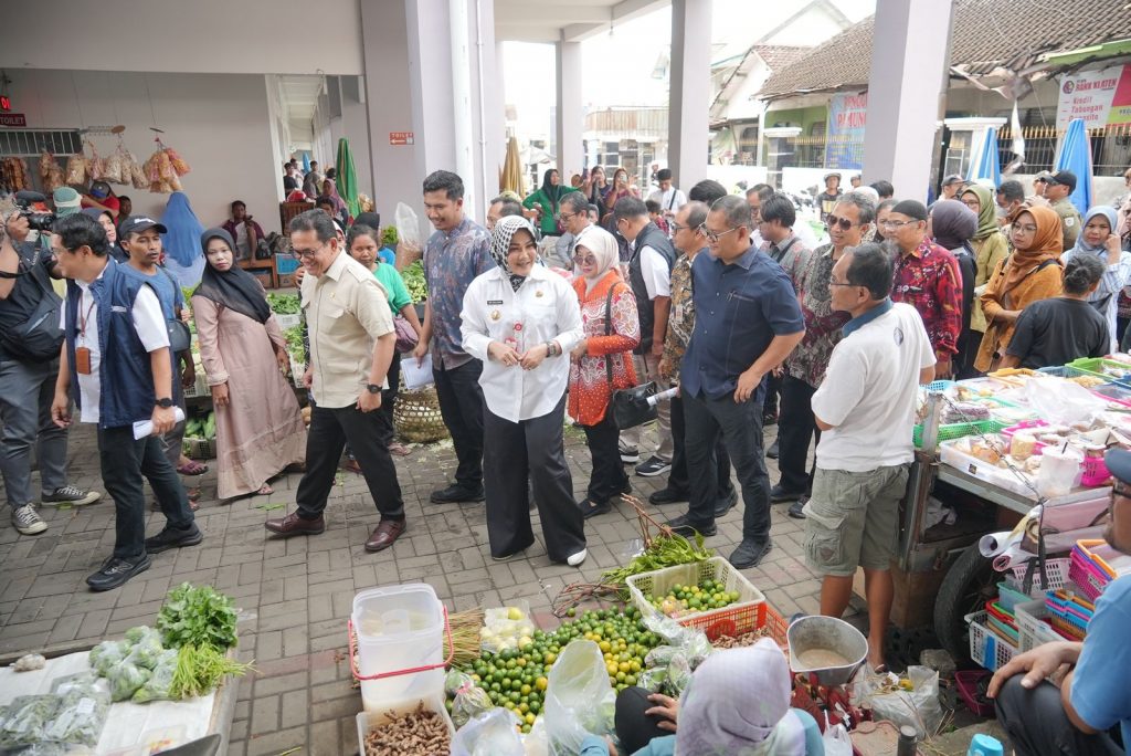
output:
<instances>
[{"instance_id":1,"label":"pale lavender headscarf of the seated vendor at bottom centre","mask_svg":"<svg viewBox=\"0 0 1131 756\"><path fill-rule=\"evenodd\" d=\"M789 712L791 680L785 654L769 638L713 653L680 701L675 753L804 756L804 727Z\"/></svg>"}]
</instances>

